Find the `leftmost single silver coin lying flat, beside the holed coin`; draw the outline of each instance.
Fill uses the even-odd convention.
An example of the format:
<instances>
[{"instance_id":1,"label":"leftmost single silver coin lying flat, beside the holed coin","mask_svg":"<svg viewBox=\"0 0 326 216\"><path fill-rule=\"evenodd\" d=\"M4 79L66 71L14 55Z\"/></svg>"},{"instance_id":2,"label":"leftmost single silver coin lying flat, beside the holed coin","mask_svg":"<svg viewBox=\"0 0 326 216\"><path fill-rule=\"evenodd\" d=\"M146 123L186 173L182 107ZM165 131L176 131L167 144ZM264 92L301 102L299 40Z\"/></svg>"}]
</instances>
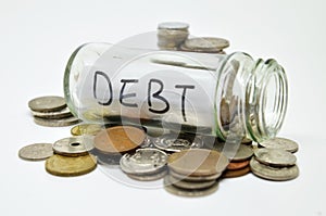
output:
<instances>
[{"instance_id":1,"label":"leftmost single silver coin lying flat, beside the holed coin","mask_svg":"<svg viewBox=\"0 0 326 216\"><path fill-rule=\"evenodd\" d=\"M46 160L53 155L51 143L35 143L23 147L18 151L18 156L28 161Z\"/></svg>"}]
</instances>

